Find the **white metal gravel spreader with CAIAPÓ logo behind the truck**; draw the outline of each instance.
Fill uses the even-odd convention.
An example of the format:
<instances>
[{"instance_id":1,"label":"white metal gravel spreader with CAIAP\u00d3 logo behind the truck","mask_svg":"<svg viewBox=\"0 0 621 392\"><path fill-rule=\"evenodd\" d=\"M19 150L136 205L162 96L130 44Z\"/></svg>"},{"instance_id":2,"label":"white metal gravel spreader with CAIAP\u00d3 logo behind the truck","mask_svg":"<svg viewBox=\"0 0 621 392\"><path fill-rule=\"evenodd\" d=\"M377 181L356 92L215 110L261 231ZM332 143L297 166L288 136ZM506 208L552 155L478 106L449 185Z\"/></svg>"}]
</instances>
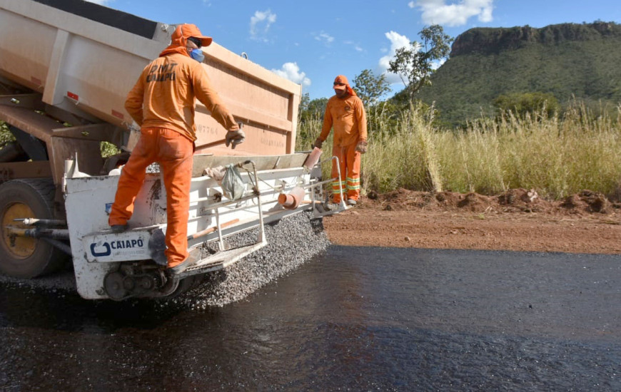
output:
<instances>
[{"instance_id":1,"label":"white metal gravel spreader with CAIAP\u00d3 logo behind the truck","mask_svg":"<svg viewBox=\"0 0 621 392\"><path fill-rule=\"evenodd\" d=\"M196 262L175 277L166 275L166 190L159 173L148 174L138 193L126 232L113 233L108 214L118 176L88 176L67 163L65 205L76 286L87 299L126 299L131 296L169 296L188 287L193 277L225 269L265 247L264 225L303 211L321 217L326 211L320 169L303 165L308 153L281 157L195 158L195 172L235 163L246 187L244 195L229 200L215 177L193 177L188 220L188 251ZM196 168L197 162L203 169ZM256 231L243 246L226 239ZM195 279L196 280L196 279ZM186 282L184 284L183 282Z\"/></svg>"}]
</instances>

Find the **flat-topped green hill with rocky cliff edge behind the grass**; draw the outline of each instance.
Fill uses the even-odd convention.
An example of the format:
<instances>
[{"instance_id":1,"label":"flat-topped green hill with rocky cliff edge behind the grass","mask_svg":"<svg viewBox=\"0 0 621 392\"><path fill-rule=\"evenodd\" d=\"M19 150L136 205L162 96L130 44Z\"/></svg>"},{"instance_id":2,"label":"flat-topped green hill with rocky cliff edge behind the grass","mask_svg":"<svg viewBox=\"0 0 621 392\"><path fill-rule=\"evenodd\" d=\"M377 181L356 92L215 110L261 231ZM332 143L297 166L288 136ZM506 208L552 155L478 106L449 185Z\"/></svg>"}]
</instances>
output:
<instances>
[{"instance_id":1,"label":"flat-topped green hill with rocky cliff edge behind the grass","mask_svg":"<svg viewBox=\"0 0 621 392\"><path fill-rule=\"evenodd\" d=\"M440 117L463 123L494 113L509 93L552 93L562 104L621 102L621 25L557 24L542 29L470 29L453 42L450 58L418 98L435 101Z\"/></svg>"}]
</instances>

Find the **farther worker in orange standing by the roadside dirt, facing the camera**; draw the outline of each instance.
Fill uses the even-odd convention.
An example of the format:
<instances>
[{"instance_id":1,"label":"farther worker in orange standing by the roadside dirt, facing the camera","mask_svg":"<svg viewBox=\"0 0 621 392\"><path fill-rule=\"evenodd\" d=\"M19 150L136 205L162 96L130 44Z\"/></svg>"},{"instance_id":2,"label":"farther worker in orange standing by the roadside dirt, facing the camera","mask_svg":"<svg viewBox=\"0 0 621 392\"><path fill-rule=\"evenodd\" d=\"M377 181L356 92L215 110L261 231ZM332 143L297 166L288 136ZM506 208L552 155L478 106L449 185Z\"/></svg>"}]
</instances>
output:
<instances>
[{"instance_id":1,"label":"farther worker in orange standing by the roadside dirt, facing the camera","mask_svg":"<svg viewBox=\"0 0 621 392\"><path fill-rule=\"evenodd\" d=\"M315 140L315 147L321 148L330 130L334 128L332 153L338 157L341 181L338 181L338 167L333 163L332 202L341 202L341 191L348 205L355 205L360 199L360 158L367 151L367 120L362 100L355 95L347 78L339 75L334 79L335 95L325 105L323 127Z\"/></svg>"}]
</instances>

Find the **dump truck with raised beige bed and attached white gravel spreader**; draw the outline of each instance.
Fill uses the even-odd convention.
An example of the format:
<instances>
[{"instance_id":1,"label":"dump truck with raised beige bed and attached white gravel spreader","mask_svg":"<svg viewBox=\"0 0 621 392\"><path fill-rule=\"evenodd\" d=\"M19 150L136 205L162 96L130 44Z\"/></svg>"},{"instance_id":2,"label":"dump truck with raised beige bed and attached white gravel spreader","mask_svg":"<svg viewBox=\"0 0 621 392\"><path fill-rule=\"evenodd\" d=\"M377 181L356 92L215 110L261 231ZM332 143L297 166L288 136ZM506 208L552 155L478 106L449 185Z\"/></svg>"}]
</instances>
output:
<instances>
[{"instance_id":1,"label":"dump truck with raised beige bed and attached white gravel spreader","mask_svg":"<svg viewBox=\"0 0 621 392\"><path fill-rule=\"evenodd\" d=\"M157 165L129 229L111 232L118 174L139 136L125 98L175 28L83 0L0 0L0 120L10 131L0 150L1 274L36 278L69 259L86 299L166 297L264 247L266 223L335 212L321 207L320 164L329 160L294 151L301 86L212 43L202 66L246 141L226 148L226 130L197 103L188 220L196 263L165 273ZM118 150L106 155L102 145ZM223 176L238 180L235 192ZM251 230L250 243L228 244Z\"/></svg>"}]
</instances>

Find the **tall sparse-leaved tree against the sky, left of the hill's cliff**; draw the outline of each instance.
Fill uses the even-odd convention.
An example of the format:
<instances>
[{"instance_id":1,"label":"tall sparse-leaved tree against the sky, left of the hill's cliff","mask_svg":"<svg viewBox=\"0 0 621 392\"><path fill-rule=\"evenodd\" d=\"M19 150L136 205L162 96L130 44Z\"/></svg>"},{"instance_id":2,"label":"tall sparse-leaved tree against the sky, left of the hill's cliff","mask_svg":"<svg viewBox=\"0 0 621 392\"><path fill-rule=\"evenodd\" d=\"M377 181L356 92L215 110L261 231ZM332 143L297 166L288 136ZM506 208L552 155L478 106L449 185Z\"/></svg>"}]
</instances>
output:
<instances>
[{"instance_id":1,"label":"tall sparse-leaved tree against the sky, left of the hill's cliff","mask_svg":"<svg viewBox=\"0 0 621 392\"><path fill-rule=\"evenodd\" d=\"M448 57L450 43L453 42L453 38L446 35L438 24L425 27L418 36L422 43L412 41L409 47L398 48L388 68L401 78L410 100L421 87L431 84L434 62Z\"/></svg>"}]
</instances>

